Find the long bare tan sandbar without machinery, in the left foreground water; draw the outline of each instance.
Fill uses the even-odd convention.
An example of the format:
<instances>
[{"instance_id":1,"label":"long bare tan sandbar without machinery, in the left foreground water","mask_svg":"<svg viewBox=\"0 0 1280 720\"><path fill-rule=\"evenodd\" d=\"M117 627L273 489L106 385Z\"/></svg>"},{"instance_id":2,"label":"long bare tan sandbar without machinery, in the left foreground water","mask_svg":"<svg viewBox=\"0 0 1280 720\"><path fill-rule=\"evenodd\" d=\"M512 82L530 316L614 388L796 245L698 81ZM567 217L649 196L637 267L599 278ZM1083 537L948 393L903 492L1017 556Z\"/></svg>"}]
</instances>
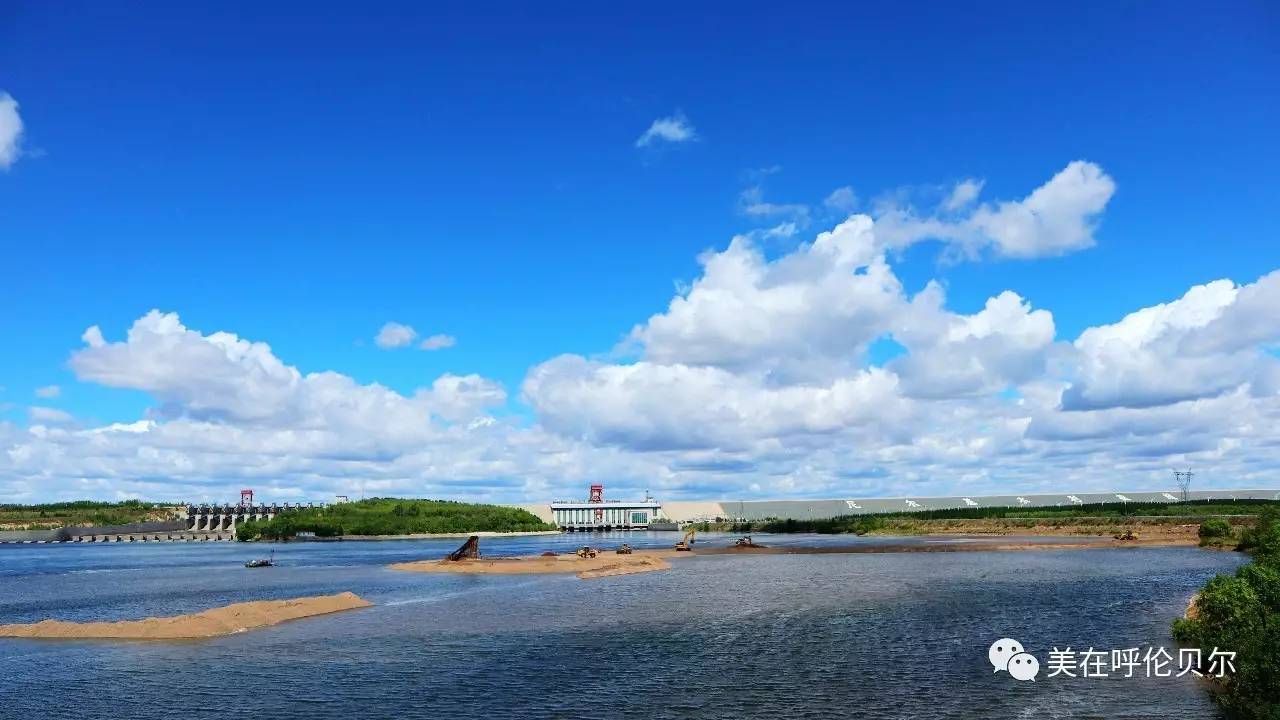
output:
<instances>
[{"instance_id":1,"label":"long bare tan sandbar without machinery, in the left foreground water","mask_svg":"<svg viewBox=\"0 0 1280 720\"><path fill-rule=\"evenodd\" d=\"M40 623L0 625L0 637L9 638L110 638L129 641L174 641L214 638L244 630L266 628L288 620L328 615L342 610L369 607L367 600L351 593L296 597L293 600L260 600L237 602L191 615L120 620L118 623Z\"/></svg>"}]
</instances>

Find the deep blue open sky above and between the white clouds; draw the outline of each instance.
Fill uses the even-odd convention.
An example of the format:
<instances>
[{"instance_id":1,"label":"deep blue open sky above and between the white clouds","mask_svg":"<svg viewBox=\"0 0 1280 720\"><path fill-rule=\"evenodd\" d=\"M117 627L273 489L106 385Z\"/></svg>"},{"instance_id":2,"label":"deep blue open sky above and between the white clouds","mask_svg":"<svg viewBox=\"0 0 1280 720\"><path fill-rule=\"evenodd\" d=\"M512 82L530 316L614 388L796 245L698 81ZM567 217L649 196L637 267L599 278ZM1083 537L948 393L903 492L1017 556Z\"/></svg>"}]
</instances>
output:
<instances>
[{"instance_id":1,"label":"deep blue open sky above and between the white clouds","mask_svg":"<svg viewBox=\"0 0 1280 720\"><path fill-rule=\"evenodd\" d=\"M562 354L630 366L634 348L616 346L735 234L758 233L762 256L781 259L849 213L919 209L965 179L982 182L980 202L1016 201L1075 160L1115 186L1088 243L1033 259L905 243L890 252L905 295L932 281L948 311L972 315L1012 291L1051 311L1055 342L1069 345L1192 287L1244 286L1280 266L1280 15L1262 3L374 5L0 12L0 92L22 122L0 172L0 337L12 343L0 420L12 447L38 424L33 405L68 414L68 433L143 416L234 425L186 405L189 388L95 380L69 363L86 328L120 341L159 309L205 336L269 343L302 373L403 396L445 374L486 378L507 397L488 416L643 456L627 469L584 460L566 487L602 475L643 487L653 446L552 421L545 407L563 396L522 398L531 369ZM637 147L662 118L682 118L692 137ZM841 187L856 204L824 205ZM753 201L806 209L753 214ZM787 220L795 234L764 237ZM388 322L456 345L379 348ZM1271 352L1270 338L1251 347ZM883 347L861 365L888 363L896 352L877 357ZM1071 374L1046 368L1041 379ZM771 372L768 383L790 382ZM1020 397L1024 382L1000 393ZM58 397L37 398L47 386ZM1263 386L1249 383L1253 395ZM534 442L520 437L495 447ZM712 445L699 451L742 450ZM759 480L795 482L824 468L814 457L741 480L659 464L672 493L840 489ZM893 480L883 460L864 460L890 478L868 491L942 482ZM481 474L517 487L516 465ZM931 478L946 469L929 466ZM133 470L99 462L63 479L91 486L37 470L12 466L8 495L147 489L120 489ZM294 471L282 493L343 487ZM388 487L436 489L424 473ZM0 464L0 498L4 474ZM212 475L191 482L216 488ZM1157 475L1143 468L1132 483ZM559 487L521 482L511 495ZM489 487L476 492L500 495Z\"/></svg>"}]
</instances>

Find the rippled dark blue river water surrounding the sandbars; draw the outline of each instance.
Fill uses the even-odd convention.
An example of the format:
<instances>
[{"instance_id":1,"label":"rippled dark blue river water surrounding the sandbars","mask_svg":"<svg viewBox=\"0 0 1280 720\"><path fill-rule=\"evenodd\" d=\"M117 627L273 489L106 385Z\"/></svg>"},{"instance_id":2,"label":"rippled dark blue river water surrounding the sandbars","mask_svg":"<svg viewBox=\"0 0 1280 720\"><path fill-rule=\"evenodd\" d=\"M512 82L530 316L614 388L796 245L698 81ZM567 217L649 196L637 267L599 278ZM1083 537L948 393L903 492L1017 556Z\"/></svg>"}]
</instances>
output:
<instances>
[{"instance_id":1,"label":"rippled dark blue river water surrounding the sandbars","mask_svg":"<svg viewBox=\"0 0 1280 720\"><path fill-rule=\"evenodd\" d=\"M582 541L485 539L481 550L525 555ZM595 580L385 569L458 542L294 543L259 570L242 564L270 546L0 546L0 623L134 619L340 591L375 603L207 641L0 638L0 717L1215 717L1190 675L1047 678L1047 652L1164 646L1176 657L1170 619L1215 573L1244 561L1133 548L718 555ZM987 648L1001 637L1038 656L1036 682L992 670Z\"/></svg>"}]
</instances>

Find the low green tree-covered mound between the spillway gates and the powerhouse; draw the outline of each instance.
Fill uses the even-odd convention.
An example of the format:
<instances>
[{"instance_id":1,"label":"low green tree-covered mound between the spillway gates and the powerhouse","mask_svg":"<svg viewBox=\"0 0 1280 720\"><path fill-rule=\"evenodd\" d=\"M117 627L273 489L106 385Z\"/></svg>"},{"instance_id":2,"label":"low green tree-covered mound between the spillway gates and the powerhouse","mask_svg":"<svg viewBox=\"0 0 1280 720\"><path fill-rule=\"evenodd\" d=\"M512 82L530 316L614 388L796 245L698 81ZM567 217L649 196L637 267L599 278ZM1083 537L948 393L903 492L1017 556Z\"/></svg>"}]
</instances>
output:
<instances>
[{"instance_id":1,"label":"low green tree-covered mound between the spillway gates and the powerhouse","mask_svg":"<svg viewBox=\"0 0 1280 720\"><path fill-rule=\"evenodd\" d=\"M517 507L453 502L448 500L371 498L328 507L282 512L268 521L236 527L236 537L289 539L300 532L316 537L407 536L416 533L516 533L554 530L535 515Z\"/></svg>"}]
</instances>

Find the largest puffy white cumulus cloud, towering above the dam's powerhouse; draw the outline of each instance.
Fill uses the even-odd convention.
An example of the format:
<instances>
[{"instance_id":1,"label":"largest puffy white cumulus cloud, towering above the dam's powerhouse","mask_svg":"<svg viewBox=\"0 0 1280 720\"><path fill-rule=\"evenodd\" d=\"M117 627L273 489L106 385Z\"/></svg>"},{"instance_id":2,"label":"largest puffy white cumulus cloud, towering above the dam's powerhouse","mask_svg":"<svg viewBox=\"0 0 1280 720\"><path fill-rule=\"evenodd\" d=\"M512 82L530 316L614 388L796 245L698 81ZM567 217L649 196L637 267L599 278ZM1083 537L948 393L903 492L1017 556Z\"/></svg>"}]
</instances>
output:
<instances>
[{"instance_id":1,"label":"largest puffy white cumulus cloud, towering above the dam's powerhouse","mask_svg":"<svg viewBox=\"0 0 1280 720\"><path fill-rule=\"evenodd\" d=\"M867 215L776 259L739 236L700 263L664 313L631 331L639 361L568 355L530 372L524 397L547 427L636 451L838 434L884 443L911 434L922 398L1038 379L1053 346L1052 315L1012 292L973 315L946 310L937 284L909 297ZM868 368L886 337L908 355Z\"/></svg>"}]
</instances>

